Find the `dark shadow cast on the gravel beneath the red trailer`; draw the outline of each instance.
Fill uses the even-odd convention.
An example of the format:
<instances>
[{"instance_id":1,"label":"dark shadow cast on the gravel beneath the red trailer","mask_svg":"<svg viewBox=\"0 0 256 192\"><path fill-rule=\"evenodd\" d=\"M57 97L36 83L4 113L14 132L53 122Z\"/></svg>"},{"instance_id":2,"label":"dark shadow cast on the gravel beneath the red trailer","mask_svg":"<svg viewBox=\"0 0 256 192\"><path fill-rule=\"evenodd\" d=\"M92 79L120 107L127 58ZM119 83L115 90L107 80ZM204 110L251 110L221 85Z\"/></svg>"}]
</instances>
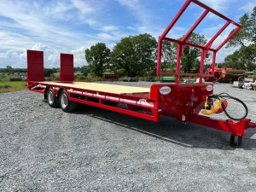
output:
<instances>
[{"instance_id":1,"label":"dark shadow cast on the gravel beneath the red trailer","mask_svg":"<svg viewBox=\"0 0 256 192\"><path fill-rule=\"evenodd\" d=\"M102 119L108 123L119 125L150 137L156 137L185 148L236 149L236 147L230 146L230 134L224 131L214 130L201 125L184 124L166 116L161 116L160 121L155 123L146 119L139 119L130 115L85 105L82 105L79 111L75 113ZM256 134L255 129L246 131L243 143L239 148L256 150L256 139L250 138L254 134Z\"/></svg>"}]
</instances>

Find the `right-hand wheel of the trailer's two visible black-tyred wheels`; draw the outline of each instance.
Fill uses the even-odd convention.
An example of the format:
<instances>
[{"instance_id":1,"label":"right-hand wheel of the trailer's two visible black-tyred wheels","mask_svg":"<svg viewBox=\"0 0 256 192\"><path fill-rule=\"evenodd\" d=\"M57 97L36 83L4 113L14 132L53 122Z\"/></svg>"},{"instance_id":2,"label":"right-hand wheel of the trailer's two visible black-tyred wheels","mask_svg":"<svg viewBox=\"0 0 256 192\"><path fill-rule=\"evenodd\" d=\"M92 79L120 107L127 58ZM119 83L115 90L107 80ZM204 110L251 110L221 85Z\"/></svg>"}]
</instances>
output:
<instances>
[{"instance_id":1,"label":"right-hand wheel of the trailer's two visible black-tyred wheels","mask_svg":"<svg viewBox=\"0 0 256 192\"><path fill-rule=\"evenodd\" d=\"M73 111L77 110L77 108L79 107L78 102L72 102L69 100L66 90L61 91L61 94L59 97L59 102L60 102L62 111L66 112L66 113L73 112Z\"/></svg>"}]
</instances>

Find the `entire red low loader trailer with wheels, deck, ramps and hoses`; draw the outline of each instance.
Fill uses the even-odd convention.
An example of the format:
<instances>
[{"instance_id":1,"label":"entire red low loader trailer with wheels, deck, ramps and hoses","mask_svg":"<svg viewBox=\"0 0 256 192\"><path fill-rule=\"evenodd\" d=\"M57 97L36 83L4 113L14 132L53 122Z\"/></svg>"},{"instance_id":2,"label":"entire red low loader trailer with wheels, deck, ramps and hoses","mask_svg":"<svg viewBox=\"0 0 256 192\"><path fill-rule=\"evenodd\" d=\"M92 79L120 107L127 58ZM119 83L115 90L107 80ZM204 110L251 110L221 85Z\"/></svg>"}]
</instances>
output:
<instances>
[{"instance_id":1,"label":"entire red low loader trailer with wheels, deck, ramps and hoses","mask_svg":"<svg viewBox=\"0 0 256 192\"><path fill-rule=\"evenodd\" d=\"M190 3L195 3L205 9L202 15L196 20L195 24L189 29L183 39L176 40L166 38L167 33L177 22L184 10ZM218 15L226 20L226 23L214 35L214 37L204 46L189 43L189 37L207 16L208 13ZM224 39L224 42L217 49L212 49L213 41L224 31L227 26L233 24L236 29L230 36ZM208 77L214 77L215 58L219 49L239 31L241 25L235 21L221 15L216 10L209 8L207 5L197 0L187 0L179 10L172 22L159 37L157 74L158 75L175 75L175 83L152 84L150 88L121 86L113 84L96 84L75 82L73 79L73 55L62 54L60 80L55 82L44 81L44 52L38 50L27 50L27 80L26 86L29 90L41 93L44 99L49 103L49 107L60 107L64 112L72 112L79 103L104 108L118 113L125 113L142 119L159 121L160 115L166 115L175 118L183 123L193 123L204 125L209 128L226 131L230 133L230 144L241 145L242 136L248 128L255 128L256 124L247 119L247 106L241 100L229 95L213 95L213 84L202 83L202 78L206 77L203 73L204 59L208 51L213 52L212 74ZM161 71L161 54L162 41L171 41L177 43L177 66L176 73ZM180 58L185 46L192 46L201 49L201 66L200 73L180 73ZM179 76L198 76L199 84L182 84L179 83ZM246 113L241 118L232 118L225 110L228 108L228 99L235 99L246 109ZM127 108L120 108L119 103L123 103ZM212 119L213 113L224 113L230 119ZM203 137L203 136L202 136ZM237 142L235 142L237 137Z\"/></svg>"}]
</instances>

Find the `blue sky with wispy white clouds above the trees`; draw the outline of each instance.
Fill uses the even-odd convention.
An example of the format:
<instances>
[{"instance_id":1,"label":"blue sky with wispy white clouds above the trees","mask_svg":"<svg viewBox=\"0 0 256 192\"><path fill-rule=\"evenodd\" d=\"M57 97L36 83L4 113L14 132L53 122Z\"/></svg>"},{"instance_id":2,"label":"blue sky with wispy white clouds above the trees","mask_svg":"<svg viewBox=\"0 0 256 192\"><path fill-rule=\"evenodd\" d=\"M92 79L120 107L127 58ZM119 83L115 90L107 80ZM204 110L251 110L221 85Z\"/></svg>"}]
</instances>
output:
<instances>
[{"instance_id":1,"label":"blue sky with wispy white clouds above the trees","mask_svg":"<svg viewBox=\"0 0 256 192\"><path fill-rule=\"evenodd\" d=\"M60 53L74 55L74 66L87 65L84 50L96 43L109 49L129 35L149 33L158 40L185 0L0 0L0 67L26 68L26 49L44 51L44 67L60 67ZM239 22L250 14L256 0L201 0L212 9ZM201 9L191 3L169 38L182 37ZM225 20L208 14L195 32L212 38ZM216 39L217 48L235 26ZM221 49L217 62L236 47Z\"/></svg>"}]
</instances>

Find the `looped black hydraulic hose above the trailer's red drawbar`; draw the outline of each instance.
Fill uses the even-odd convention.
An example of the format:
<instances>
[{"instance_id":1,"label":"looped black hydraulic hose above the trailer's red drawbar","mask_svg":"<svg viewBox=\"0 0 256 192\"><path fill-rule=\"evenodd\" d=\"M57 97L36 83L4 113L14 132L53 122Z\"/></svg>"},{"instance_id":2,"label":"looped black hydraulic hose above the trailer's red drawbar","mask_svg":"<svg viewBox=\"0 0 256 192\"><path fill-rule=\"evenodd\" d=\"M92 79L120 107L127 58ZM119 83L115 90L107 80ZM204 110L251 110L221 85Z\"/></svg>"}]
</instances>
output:
<instances>
[{"instance_id":1,"label":"looped black hydraulic hose above the trailer's red drawbar","mask_svg":"<svg viewBox=\"0 0 256 192\"><path fill-rule=\"evenodd\" d=\"M226 96L223 96L224 94L225 94ZM233 119L233 120L241 120L241 119L245 119L245 118L247 117L247 114L248 114L247 105L246 105L244 102L242 102L240 99L238 99L238 98L236 98L236 97L234 97L234 96L230 96L230 95L227 94L227 93L220 93L220 94L218 94L218 95L211 95L211 96L209 96L209 97L216 98L216 99L220 99L220 98L230 98L230 99L236 100L237 102L240 102L241 105L242 105L242 106L245 108L245 110L246 110L246 113L245 113L241 118L234 118L234 117L230 116L230 114L226 111L226 108L224 107L224 103L223 103L223 102L221 103L221 106L222 106L222 108L223 108L223 110L224 110L224 113L225 113L225 114L227 115L227 117L229 117L230 119Z\"/></svg>"}]
</instances>

